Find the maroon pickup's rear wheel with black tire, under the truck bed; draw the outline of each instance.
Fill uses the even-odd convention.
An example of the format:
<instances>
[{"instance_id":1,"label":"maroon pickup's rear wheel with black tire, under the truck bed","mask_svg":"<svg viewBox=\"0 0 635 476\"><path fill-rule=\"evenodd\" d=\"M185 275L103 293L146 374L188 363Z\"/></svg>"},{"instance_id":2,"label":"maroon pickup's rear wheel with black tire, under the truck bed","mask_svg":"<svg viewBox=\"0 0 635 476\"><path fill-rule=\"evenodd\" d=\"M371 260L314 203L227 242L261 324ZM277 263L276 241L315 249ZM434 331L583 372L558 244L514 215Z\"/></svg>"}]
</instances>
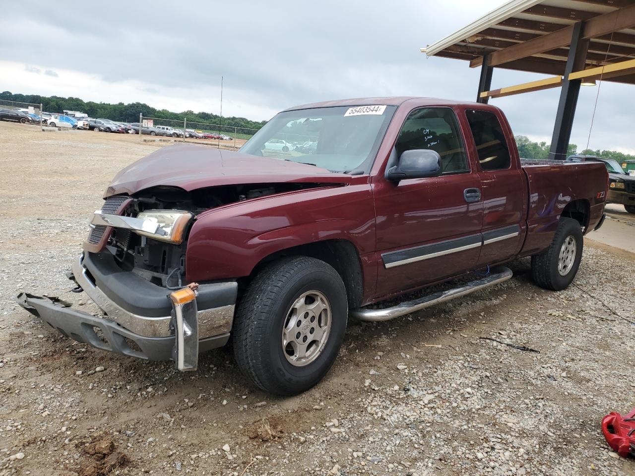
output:
<instances>
[{"instance_id":1,"label":"maroon pickup's rear wheel with black tire, under the truck bed","mask_svg":"<svg viewBox=\"0 0 635 476\"><path fill-rule=\"evenodd\" d=\"M580 267L584 239L580 223L560 218L554 239L540 255L531 256L531 277L540 288L560 291L571 284Z\"/></svg>"}]
</instances>

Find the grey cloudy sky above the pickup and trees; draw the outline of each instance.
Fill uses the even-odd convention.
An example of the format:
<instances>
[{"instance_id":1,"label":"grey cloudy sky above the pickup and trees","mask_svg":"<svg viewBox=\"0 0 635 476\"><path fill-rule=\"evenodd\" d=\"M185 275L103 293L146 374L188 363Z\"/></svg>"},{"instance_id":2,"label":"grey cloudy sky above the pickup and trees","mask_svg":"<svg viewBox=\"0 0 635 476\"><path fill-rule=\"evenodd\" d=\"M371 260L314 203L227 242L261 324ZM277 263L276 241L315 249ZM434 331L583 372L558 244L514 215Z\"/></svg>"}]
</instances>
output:
<instances>
[{"instance_id":1,"label":"grey cloudy sky above the pickup and trees","mask_svg":"<svg viewBox=\"0 0 635 476\"><path fill-rule=\"evenodd\" d=\"M174 111L269 119L333 98L474 100L478 69L426 58L432 44L501 0L48 2L7 0L0 91L145 102ZM495 70L492 87L540 75ZM635 153L634 86L582 88L572 142ZM559 89L492 100L517 134L551 140Z\"/></svg>"}]
</instances>

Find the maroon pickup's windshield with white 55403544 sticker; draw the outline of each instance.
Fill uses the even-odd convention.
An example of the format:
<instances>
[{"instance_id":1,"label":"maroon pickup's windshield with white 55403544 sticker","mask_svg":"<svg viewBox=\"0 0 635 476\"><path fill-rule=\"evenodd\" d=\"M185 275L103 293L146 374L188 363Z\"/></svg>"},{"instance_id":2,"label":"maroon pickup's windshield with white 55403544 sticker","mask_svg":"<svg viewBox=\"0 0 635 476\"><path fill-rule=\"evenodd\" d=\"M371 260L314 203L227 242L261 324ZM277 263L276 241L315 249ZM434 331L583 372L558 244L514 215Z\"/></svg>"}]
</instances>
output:
<instances>
[{"instance_id":1,"label":"maroon pickup's windshield with white 55403544 sticker","mask_svg":"<svg viewBox=\"0 0 635 476\"><path fill-rule=\"evenodd\" d=\"M333 172L368 173L395 106L321 107L281 112L240 152Z\"/></svg>"}]
</instances>

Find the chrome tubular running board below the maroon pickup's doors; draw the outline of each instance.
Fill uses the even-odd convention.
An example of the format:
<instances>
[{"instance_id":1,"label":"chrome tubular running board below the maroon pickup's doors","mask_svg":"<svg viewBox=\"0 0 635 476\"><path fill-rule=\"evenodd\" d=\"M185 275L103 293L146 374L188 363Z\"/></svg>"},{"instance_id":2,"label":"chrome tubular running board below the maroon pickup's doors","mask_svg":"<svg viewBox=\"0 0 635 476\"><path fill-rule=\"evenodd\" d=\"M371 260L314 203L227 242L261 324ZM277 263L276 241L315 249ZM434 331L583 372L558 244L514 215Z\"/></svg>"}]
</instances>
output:
<instances>
[{"instance_id":1,"label":"chrome tubular running board below the maroon pickup's doors","mask_svg":"<svg viewBox=\"0 0 635 476\"><path fill-rule=\"evenodd\" d=\"M446 301L450 301L454 298L460 298L461 296L465 296L466 294L474 293L474 291L480 291L481 289L495 286L496 284L500 284L501 282L511 279L512 275L514 274L512 273L511 269L500 266L493 268L491 270L491 274L487 275L486 277L477 279L476 281L468 282L464 286L459 286L458 288L448 289L447 291L430 294L429 296L424 296L412 301L399 303L396 306L387 307L384 309L368 309L358 307L356 309L351 309L349 315L351 315L351 317L353 317L354 319L358 319L359 321L388 321L389 319L394 319L395 317L399 317L401 315L410 314L411 312L417 312L436 304L445 303Z\"/></svg>"}]
</instances>

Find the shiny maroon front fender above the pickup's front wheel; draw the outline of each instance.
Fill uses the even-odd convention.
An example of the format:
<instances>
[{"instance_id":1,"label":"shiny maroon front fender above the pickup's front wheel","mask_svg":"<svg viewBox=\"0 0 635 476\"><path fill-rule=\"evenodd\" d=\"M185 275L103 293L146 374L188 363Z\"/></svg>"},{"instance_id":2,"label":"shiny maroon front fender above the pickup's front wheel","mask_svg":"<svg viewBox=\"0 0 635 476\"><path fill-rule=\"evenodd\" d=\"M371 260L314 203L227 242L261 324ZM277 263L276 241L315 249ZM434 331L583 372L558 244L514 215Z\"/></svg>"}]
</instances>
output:
<instances>
[{"instance_id":1,"label":"shiny maroon front fender above the pickup's front wheel","mask_svg":"<svg viewBox=\"0 0 635 476\"><path fill-rule=\"evenodd\" d=\"M368 176L343 187L269 195L202 213L187 241L186 279L248 276L272 253L332 239L354 244L364 282L374 283L375 206Z\"/></svg>"}]
</instances>

